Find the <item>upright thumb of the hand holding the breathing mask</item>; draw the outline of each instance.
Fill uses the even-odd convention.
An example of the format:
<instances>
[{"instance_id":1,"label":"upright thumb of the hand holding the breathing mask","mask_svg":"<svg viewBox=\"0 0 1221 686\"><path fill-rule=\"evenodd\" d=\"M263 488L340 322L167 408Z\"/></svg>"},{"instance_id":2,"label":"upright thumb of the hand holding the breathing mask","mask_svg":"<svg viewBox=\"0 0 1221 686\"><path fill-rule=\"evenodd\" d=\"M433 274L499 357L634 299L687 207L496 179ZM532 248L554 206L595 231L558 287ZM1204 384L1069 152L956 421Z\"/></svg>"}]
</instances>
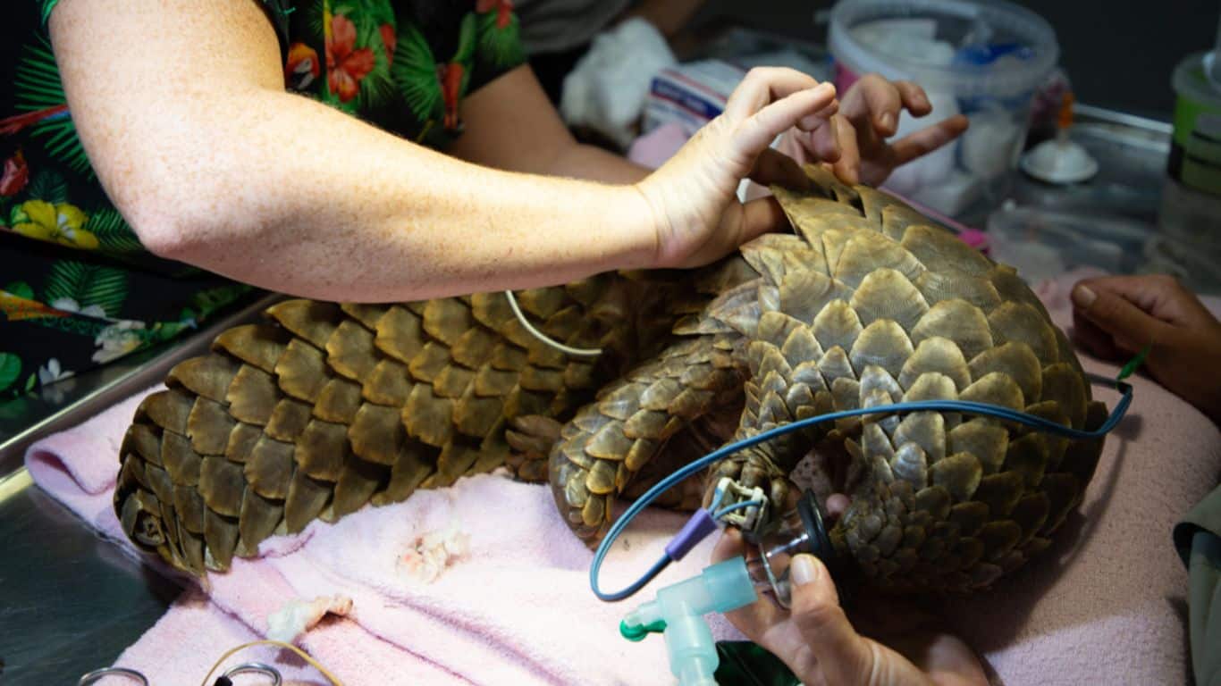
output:
<instances>
[{"instance_id":1,"label":"upright thumb of the hand holding the breathing mask","mask_svg":"<svg viewBox=\"0 0 1221 686\"><path fill-rule=\"evenodd\" d=\"M839 604L827 566L813 555L792 558L792 620L810 646L827 684L867 684L875 670L874 653Z\"/></svg>"}]
</instances>

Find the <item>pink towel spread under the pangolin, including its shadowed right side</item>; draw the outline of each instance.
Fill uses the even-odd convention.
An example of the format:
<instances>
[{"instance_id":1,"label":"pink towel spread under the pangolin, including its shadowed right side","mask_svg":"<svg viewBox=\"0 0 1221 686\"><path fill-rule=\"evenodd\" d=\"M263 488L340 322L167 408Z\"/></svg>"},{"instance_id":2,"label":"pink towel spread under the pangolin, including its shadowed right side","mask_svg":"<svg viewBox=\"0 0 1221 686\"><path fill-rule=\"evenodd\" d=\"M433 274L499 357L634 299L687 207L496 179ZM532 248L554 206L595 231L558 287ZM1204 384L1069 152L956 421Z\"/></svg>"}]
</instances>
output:
<instances>
[{"instance_id":1,"label":"pink towel spread under the pangolin, including its shadowed right side","mask_svg":"<svg viewBox=\"0 0 1221 686\"><path fill-rule=\"evenodd\" d=\"M1067 287L1078 276L1039 288L1063 327L1071 326ZM1187 674L1187 576L1170 530L1217 483L1221 435L1156 383L1140 377L1133 386L1128 419L1109 438L1081 514L1053 548L993 592L945 608L950 625L1005 684L1170 684ZM1098 393L1114 406L1114 393ZM110 504L117 447L143 395L27 454L43 488L111 536L118 530ZM414 580L403 555L419 537L453 522L469 535L469 553L431 583ZM642 571L681 522L664 511L639 518L626 546L610 555L603 586L618 587ZM634 601L696 574L711 543ZM264 635L267 615L284 603L344 594L354 601L352 615L324 621L299 643L353 686L668 681L659 638L629 643L618 635L634 602L604 604L590 593L591 555L543 486L501 475L465 478L335 525L314 522L260 552L258 560L236 560L228 574L210 575L210 602L199 591L186 593L116 664L140 669L158 686L198 684L225 649ZM713 630L718 638L740 638L719 616ZM299 684L324 682L274 649L228 664L255 658L278 660L286 675L304 679Z\"/></svg>"}]
</instances>

